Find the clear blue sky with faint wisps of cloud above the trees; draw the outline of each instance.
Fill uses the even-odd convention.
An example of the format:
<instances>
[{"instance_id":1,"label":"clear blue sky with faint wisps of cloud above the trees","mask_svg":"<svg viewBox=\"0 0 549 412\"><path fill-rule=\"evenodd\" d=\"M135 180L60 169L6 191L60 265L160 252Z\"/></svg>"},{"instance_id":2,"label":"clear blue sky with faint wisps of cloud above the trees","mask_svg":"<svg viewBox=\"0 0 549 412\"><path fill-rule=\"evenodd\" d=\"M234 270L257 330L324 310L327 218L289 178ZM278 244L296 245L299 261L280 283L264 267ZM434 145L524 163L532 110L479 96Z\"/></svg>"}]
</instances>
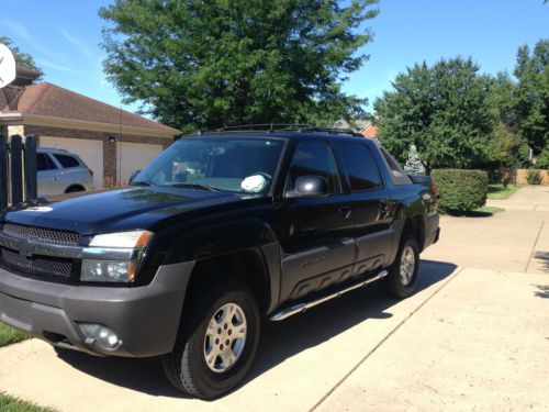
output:
<instances>
[{"instance_id":1,"label":"clear blue sky with faint wisps of cloud above the trees","mask_svg":"<svg viewBox=\"0 0 549 412\"><path fill-rule=\"evenodd\" d=\"M120 105L121 97L101 68L105 23L97 10L109 3L3 0L0 35L33 55L46 81ZM415 62L461 55L471 56L485 73L513 71L518 46L549 37L549 4L542 0L381 0L379 9L368 22L374 40L363 52L370 60L344 85L346 92L370 100Z\"/></svg>"}]
</instances>

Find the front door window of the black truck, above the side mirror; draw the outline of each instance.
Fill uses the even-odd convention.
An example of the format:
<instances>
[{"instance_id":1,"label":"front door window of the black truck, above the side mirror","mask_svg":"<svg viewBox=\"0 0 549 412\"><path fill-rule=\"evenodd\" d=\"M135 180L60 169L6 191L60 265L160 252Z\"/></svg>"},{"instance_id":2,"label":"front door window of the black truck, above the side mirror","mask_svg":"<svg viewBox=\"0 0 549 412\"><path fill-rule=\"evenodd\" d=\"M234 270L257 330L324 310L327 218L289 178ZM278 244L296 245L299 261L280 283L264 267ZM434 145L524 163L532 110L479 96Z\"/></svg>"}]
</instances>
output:
<instances>
[{"instance_id":1,"label":"front door window of the black truck, above the side mirror","mask_svg":"<svg viewBox=\"0 0 549 412\"><path fill-rule=\"evenodd\" d=\"M330 193L340 193L341 183L332 148L322 142L302 142L295 148L289 171L289 188L299 176L322 176L328 182Z\"/></svg>"}]
</instances>

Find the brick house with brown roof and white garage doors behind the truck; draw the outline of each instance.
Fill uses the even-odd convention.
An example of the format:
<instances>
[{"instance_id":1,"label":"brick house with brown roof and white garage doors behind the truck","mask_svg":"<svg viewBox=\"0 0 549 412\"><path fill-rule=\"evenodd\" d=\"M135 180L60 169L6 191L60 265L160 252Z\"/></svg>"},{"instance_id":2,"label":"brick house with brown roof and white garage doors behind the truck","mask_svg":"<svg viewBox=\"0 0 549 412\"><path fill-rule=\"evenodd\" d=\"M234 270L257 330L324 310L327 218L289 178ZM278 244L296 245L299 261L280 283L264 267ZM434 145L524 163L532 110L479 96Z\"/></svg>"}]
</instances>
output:
<instances>
[{"instance_id":1,"label":"brick house with brown roof and white garage doors behind the truck","mask_svg":"<svg viewBox=\"0 0 549 412\"><path fill-rule=\"evenodd\" d=\"M41 147L76 153L90 167L94 186L125 185L181 134L177 129L90 99L18 68L18 78L0 89L0 133L37 135Z\"/></svg>"}]
</instances>

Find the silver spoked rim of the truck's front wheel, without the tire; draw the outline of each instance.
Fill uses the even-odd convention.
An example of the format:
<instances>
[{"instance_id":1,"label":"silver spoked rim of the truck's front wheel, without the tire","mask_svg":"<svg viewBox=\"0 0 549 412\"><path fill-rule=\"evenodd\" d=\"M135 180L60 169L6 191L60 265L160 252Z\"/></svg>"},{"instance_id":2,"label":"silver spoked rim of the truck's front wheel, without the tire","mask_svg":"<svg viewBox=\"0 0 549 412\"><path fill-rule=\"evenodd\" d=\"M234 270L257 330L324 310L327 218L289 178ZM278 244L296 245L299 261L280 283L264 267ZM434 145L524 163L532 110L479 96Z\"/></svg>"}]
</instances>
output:
<instances>
[{"instance_id":1,"label":"silver spoked rim of the truck's front wheel, without the tire","mask_svg":"<svg viewBox=\"0 0 549 412\"><path fill-rule=\"evenodd\" d=\"M239 359L246 345L247 325L244 310L226 303L215 311L204 338L204 360L213 372L223 374Z\"/></svg>"}]
</instances>

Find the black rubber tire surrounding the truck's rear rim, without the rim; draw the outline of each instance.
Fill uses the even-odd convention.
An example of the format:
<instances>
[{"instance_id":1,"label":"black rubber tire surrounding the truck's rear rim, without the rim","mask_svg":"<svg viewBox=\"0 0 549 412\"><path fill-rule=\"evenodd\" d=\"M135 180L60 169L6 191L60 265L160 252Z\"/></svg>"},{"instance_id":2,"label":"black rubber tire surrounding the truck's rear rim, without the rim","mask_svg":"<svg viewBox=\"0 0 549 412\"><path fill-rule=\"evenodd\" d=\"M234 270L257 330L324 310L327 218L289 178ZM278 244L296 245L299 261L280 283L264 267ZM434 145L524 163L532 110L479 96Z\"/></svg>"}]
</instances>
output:
<instances>
[{"instance_id":1,"label":"black rubber tire surrounding the truck's rear rim, without the rim","mask_svg":"<svg viewBox=\"0 0 549 412\"><path fill-rule=\"evenodd\" d=\"M403 259L404 252L407 248L412 248L413 250L414 269L412 279L406 285L401 277L401 261ZM381 290L385 294L400 299L407 298L414 294L415 288L417 286L417 272L419 270L419 246L417 246L417 241L413 234L404 233L402 235L396 257L393 264L386 270L389 275L380 281Z\"/></svg>"}]
</instances>

